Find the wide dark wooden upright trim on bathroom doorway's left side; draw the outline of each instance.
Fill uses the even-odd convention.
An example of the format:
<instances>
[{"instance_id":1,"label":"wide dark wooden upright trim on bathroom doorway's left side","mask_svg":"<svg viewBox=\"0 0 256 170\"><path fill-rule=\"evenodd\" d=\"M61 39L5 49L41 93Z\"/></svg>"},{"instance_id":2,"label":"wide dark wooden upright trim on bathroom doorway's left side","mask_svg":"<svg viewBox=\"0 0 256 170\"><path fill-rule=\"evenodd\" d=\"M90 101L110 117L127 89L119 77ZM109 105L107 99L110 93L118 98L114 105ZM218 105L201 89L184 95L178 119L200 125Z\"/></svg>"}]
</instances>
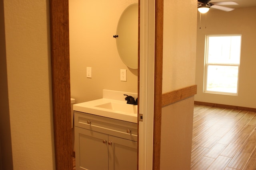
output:
<instances>
[{"instance_id":1,"label":"wide dark wooden upright trim on bathroom doorway's left side","mask_svg":"<svg viewBox=\"0 0 256 170\"><path fill-rule=\"evenodd\" d=\"M72 170L68 0L50 0L52 100L56 170Z\"/></svg>"}]
</instances>

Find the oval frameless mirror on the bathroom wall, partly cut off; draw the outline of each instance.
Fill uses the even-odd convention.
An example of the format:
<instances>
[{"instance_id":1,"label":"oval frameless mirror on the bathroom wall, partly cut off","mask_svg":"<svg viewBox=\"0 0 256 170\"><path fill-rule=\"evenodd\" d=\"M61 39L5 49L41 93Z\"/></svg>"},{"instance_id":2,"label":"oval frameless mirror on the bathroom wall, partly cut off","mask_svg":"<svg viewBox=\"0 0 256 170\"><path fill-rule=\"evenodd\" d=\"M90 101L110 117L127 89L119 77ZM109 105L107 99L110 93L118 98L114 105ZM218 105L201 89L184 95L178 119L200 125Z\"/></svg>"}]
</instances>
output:
<instances>
[{"instance_id":1,"label":"oval frameless mirror on the bathroom wall, partly cut off","mask_svg":"<svg viewBox=\"0 0 256 170\"><path fill-rule=\"evenodd\" d=\"M118 21L116 35L116 47L123 63L129 68L138 68L138 4L132 4L124 10Z\"/></svg>"}]
</instances>

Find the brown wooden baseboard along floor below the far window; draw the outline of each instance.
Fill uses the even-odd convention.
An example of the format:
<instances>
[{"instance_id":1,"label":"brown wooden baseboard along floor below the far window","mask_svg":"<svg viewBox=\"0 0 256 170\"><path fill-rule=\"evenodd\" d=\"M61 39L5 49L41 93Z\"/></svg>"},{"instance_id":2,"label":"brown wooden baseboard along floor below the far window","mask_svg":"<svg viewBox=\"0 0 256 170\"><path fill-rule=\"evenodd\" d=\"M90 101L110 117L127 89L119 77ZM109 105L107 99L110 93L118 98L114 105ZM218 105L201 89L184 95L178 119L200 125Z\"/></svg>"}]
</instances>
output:
<instances>
[{"instance_id":1,"label":"brown wooden baseboard along floor below the far window","mask_svg":"<svg viewBox=\"0 0 256 170\"><path fill-rule=\"evenodd\" d=\"M250 108L250 107L231 106L231 105L225 105L225 104L215 104L215 103L198 102L198 101L194 101L194 104L203 105L203 106L221 107L221 108L227 108L227 109L236 109L236 110L245 110L245 111L256 112L256 108Z\"/></svg>"}]
</instances>

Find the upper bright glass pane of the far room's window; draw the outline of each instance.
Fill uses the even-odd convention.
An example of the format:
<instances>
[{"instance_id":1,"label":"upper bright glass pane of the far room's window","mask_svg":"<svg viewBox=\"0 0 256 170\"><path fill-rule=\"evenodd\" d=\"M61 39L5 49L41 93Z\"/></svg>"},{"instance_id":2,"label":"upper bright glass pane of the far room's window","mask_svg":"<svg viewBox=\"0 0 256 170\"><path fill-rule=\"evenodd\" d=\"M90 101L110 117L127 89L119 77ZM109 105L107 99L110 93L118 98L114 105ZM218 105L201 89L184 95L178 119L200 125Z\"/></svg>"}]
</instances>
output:
<instances>
[{"instance_id":1,"label":"upper bright glass pane of the far room's window","mask_svg":"<svg viewBox=\"0 0 256 170\"><path fill-rule=\"evenodd\" d=\"M241 36L209 36L208 63L239 64Z\"/></svg>"}]
</instances>

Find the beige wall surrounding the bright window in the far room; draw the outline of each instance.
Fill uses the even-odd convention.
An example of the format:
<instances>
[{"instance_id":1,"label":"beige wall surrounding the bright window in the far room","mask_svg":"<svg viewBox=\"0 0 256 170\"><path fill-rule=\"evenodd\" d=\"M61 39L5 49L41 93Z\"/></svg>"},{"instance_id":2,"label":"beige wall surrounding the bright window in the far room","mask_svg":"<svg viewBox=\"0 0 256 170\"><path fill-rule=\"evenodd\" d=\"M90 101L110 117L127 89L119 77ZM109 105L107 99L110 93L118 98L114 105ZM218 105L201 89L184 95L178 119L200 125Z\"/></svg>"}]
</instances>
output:
<instances>
[{"instance_id":1,"label":"beige wall surrounding the bright window in the far room","mask_svg":"<svg viewBox=\"0 0 256 170\"><path fill-rule=\"evenodd\" d=\"M210 10L202 15L201 29L197 27L195 101L256 108L256 7L239 8L231 12ZM199 18L199 17L198 17ZM207 25L205 28L205 23ZM204 40L207 34L242 34L238 96L203 93Z\"/></svg>"}]
</instances>

